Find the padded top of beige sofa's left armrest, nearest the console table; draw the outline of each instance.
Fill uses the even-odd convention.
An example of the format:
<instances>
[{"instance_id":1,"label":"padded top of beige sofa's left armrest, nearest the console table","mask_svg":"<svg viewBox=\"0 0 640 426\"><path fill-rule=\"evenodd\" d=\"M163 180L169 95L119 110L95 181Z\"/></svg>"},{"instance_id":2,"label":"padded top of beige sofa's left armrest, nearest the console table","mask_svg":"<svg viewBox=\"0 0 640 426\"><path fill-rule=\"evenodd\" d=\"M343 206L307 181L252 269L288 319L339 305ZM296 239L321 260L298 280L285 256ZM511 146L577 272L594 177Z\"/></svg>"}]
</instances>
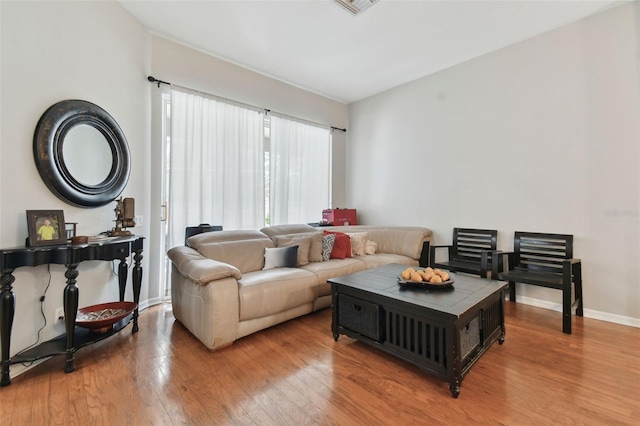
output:
<instances>
[{"instance_id":1,"label":"padded top of beige sofa's left armrest, nearest the console table","mask_svg":"<svg viewBox=\"0 0 640 426\"><path fill-rule=\"evenodd\" d=\"M167 256L182 275L198 285L227 277L236 280L242 278L240 270L235 266L204 257L190 247L174 247L167 252Z\"/></svg>"}]
</instances>

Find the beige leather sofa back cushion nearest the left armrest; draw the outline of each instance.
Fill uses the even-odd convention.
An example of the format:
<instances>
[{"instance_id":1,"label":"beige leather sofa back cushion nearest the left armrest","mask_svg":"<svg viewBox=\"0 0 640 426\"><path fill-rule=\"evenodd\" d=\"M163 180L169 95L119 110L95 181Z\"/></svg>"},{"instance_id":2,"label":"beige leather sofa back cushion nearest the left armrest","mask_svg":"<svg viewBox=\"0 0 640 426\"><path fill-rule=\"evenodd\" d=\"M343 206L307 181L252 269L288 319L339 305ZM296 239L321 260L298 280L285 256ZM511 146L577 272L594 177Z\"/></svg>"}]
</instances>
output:
<instances>
[{"instance_id":1,"label":"beige leather sofa back cushion nearest the left armrest","mask_svg":"<svg viewBox=\"0 0 640 426\"><path fill-rule=\"evenodd\" d=\"M264 249L275 244L260 231L238 230L195 235L189 238L189 246L204 257L235 266L244 274L261 270Z\"/></svg>"}]
</instances>

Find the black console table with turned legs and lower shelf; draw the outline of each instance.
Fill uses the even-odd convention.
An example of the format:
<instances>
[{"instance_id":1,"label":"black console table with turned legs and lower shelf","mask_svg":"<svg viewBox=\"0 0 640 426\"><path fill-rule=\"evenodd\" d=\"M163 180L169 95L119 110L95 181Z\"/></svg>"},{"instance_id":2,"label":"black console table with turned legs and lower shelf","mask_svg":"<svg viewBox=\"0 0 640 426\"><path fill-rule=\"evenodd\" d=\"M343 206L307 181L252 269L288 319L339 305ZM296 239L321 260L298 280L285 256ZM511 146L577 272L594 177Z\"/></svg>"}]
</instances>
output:
<instances>
[{"instance_id":1,"label":"black console table with turned legs and lower shelf","mask_svg":"<svg viewBox=\"0 0 640 426\"><path fill-rule=\"evenodd\" d=\"M2 344L2 361L0 367L2 378L0 386L11 384L9 366L21 362L31 362L54 355L66 355L64 371L70 373L75 370L73 365L74 353L83 346L95 343L123 329L133 320L133 333L138 331L138 309L123 320L114 324L112 330L105 333L91 333L87 329L76 327L76 315L78 311L78 287L76 268L85 260L120 260L118 267L118 284L120 301L124 301L124 293L127 284L127 257L133 254L134 267L132 273L133 299L136 304L140 299L140 287L142 283L142 260L144 237L129 236L117 238L105 238L80 245L52 245L41 247L19 247L0 250L0 339ZM67 270L65 277L67 284L64 288L64 321L65 334L31 348L19 355L10 357L11 328L15 313L15 294L12 284L15 281L13 271L23 266L39 266L46 264L65 265Z\"/></svg>"}]
</instances>

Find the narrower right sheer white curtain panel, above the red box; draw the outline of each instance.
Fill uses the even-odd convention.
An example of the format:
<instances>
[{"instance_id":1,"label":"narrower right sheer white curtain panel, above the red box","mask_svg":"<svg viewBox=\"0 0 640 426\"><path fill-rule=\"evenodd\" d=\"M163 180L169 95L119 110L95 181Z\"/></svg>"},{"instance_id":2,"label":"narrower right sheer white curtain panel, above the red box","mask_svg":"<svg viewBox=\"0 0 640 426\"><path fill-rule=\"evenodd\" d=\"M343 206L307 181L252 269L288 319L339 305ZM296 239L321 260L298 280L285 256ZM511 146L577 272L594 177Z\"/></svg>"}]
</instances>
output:
<instances>
[{"instance_id":1,"label":"narrower right sheer white curtain panel, above the red box","mask_svg":"<svg viewBox=\"0 0 640 426\"><path fill-rule=\"evenodd\" d=\"M317 222L331 195L331 132L271 114L270 224Z\"/></svg>"}]
</instances>

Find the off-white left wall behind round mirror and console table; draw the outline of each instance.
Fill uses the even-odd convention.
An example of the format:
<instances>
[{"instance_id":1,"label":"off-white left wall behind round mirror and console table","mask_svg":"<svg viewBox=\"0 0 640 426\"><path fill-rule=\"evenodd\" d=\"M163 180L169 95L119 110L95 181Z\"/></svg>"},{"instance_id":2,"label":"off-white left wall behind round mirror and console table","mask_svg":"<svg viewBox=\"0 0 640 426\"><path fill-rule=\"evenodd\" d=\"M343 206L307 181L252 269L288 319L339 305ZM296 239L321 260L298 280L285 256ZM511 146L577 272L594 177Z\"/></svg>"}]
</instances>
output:
<instances>
[{"instance_id":1,"label":"off-white left wall behind round mirror and console table","mask_svg":"<svg viewBox=\"0 0 640 426\"><path fill-rule=\"evenodd\" d=\"M123 196L136 199L136 213L149 215L150 36L115 2L1 2L0 246L24 245L26 210L63 210L78 222L80 235L111 229L113 205L84 209L66 204L46 187L33 159L36 123L52 104L84 99L109 112L126 135L132 170ZM135 232L147 235L147 227ZM148 247L145 247L148 249ZM143 301L157 297L148 286L148 254L143 259ZM51 285L41 340L61 334L52 326L62 306L64 267L51 265ZM84 262L79 268L80 306L118 300L110 262ZM36 341L43 325L39 298L49 281L46 266L19 268L13 290L16 314L11 353ZM128 288L131 298L131 286ZM155 293L155 294L154 294ZM13 366L18 371L20 365Z\"/></svg>"}]
</instances>

